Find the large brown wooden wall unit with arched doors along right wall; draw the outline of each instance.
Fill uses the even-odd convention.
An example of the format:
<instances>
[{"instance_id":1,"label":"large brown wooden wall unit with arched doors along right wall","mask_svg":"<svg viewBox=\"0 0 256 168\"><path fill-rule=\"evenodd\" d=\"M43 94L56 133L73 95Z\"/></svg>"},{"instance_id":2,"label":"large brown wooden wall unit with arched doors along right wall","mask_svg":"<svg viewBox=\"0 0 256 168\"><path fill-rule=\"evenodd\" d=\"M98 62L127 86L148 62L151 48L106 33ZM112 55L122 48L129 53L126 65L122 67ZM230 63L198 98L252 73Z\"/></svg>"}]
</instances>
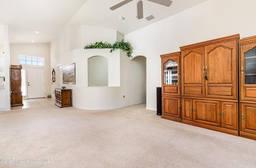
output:
<instances>
[{"instance_id":1,"label":"large brown wooden wall unit with arched doors along right wall","mask_svg":"<svg viewBox=\"0 0 256 168\"><path fill-rule=\"evenodd\" d=\"M256 36L236 34L180 50L178 57L161 55L162 118L256 140ZM171 59L180 72L174 84L165 76Z\"/></svg>"}]
</instances>

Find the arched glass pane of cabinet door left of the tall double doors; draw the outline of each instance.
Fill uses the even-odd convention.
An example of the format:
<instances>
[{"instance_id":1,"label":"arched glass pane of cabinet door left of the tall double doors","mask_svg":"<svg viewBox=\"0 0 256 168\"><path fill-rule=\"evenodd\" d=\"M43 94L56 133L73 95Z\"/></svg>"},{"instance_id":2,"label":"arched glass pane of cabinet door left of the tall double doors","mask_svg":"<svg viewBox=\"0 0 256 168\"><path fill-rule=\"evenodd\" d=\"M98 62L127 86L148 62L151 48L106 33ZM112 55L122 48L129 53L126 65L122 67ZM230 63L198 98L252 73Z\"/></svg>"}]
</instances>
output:
<instances>
[{"instance_id":1,"label":"arched glass pane of cabinet door left of the tall double doors","mask_svg":"<svg viewBox=\"0 0 256 168\"><path fill-rule=\"evenodd\" d=\"M178 63L171 59L164 64L164 84L178 84Z\"/></svg>"}]
</instances>

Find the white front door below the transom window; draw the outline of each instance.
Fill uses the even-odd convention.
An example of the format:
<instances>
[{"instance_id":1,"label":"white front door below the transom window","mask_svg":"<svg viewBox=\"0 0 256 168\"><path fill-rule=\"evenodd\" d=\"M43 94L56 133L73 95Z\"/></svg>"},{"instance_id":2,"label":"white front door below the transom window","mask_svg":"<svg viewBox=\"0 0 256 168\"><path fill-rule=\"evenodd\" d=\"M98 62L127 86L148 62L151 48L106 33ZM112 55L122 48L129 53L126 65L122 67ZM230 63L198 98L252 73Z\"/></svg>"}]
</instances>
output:
<instances>
[{"instance_id":1,"label":"white front door below the transom window","mask_svg":"<svg viewBox=\"0 0 256 168\"><path fill-rule=\"evenodd\" d=\"M27 68L28 99L44 98L44 69Z\"/></svg>"}]
</instances>

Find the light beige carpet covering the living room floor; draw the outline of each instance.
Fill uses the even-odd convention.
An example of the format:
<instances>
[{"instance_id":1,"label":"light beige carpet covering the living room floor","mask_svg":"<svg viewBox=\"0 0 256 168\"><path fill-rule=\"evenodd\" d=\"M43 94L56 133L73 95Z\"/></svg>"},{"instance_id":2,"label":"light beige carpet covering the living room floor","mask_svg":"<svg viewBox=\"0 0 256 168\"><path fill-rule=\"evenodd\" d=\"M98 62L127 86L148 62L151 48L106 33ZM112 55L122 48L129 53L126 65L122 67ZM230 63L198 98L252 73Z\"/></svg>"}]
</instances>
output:
<instances>
[{"instance_id":1,"label":"light beige carpet covering the living room floor","mask_svg":"<svg viewBox=\"0 0 256 168\"><path fill-rule=\"evenodd\" d=\"M145 104L49 105L0 113L0 158L1 168L255 168L256 141L161 119Z\"/></svg>"}]
</instances>

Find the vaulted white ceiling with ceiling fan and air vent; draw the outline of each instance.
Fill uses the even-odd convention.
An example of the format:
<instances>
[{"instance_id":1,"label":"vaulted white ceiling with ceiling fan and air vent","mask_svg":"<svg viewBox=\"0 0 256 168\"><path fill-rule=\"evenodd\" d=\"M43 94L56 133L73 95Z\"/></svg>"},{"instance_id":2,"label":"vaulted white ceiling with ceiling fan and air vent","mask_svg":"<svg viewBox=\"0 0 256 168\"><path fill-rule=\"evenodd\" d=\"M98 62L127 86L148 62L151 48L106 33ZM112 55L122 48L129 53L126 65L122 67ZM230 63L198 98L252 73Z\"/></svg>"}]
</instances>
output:
<instances>
[{"instance_id":1,"label":"vaulted white ceiling with ceiling fan and air vent","mask_svg":"<svg viewBox=\"0 0 256 168\"><path fill-rule=\"evenodd\" d=\"M0 24L9 26L10 43L50 43L67 24L114 29L125 35L206 0L172 0L170 7L142 1L144 18L138 20L136 0L114 11L109 8L122 0L0 0ZM156 19L147 21L151 14Z\"/></svg>"}]
</instances>

